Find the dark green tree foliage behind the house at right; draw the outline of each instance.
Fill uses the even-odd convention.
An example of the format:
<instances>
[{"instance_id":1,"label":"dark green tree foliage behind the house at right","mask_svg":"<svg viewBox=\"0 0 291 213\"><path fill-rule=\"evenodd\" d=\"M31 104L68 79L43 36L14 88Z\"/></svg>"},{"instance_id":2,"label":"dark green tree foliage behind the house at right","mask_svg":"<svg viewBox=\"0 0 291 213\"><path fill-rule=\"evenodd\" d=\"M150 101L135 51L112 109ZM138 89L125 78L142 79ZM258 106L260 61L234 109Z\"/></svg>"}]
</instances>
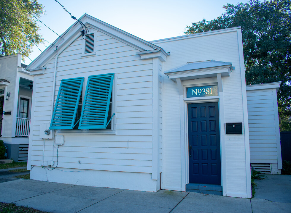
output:
<instances>
[{"instance_id":1,"label":"dark green tree foliage behind the house at right","mask_svg":"<svg viewBox=\"0 0 291 213\"><path fill-rule=\"evenodd\" d=\"M224 5L214 20L192 23L186 34L241 26L247 84L282 81L278 92L281 117L291 115L290 0L251 0Z\"/></svg>"}]
</instances>

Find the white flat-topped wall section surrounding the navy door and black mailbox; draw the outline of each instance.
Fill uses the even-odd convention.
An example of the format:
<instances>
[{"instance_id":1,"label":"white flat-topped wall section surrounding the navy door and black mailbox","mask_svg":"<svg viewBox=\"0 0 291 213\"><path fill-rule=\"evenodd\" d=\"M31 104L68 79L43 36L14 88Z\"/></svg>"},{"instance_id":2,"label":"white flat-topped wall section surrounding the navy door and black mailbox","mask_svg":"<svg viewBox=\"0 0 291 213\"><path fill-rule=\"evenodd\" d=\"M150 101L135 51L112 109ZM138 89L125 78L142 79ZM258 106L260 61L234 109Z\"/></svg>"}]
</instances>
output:
<instances>
[{"instance_id":1,"label":"white flat-topped wall section surrounding the navy door and black mailbox","mask_svg":"<svg viewBox=\"0 0 291 213\"><path fill-rule=\"evenodd\" d=\"M171 52L167 61L163 62L164 71L182 66L187 62L205 60L231 62L236 69L233 70L230 77L222 78L224 120L225 122L242 122L244 124L247 123L247 114L244 113L246 103L243 103L242 97L246 94L243 89L244 65L243 60L241 60L243 59L242 49L238 42L239 33L240 29L222 30L163 39L152 43L162 47L166 52ZM179 92L176 83L169 80L166 75L163 75L163 82L162 187L164 189L183 190L188 168L185 168L185 172L182 168L188 161L188 156L187 148L185 151L181 150L180 135L183 130L181 130L180 121ZM192 80L192 82L187 83L195 85L201 83L201 80ZM182 114L187 113L187 110L184 109L184 111ZM245 112L247 112L246 109ZM220 128L222 128L221 132L224 133L224 127ZM187 125L185 131L187 135ZM247 165L249 141L248 133L244 134L244 132L243 128L243 135L225 135L225 141L221 142L225 143L225 162L222 164L222 174L224 174L222 175L222 181L225 180L225 185L223 185L224 195L250 196L250 177L247 175L247 170L249 170L249 165ZM185 147L188 147L187 136L185 138L186 141L182 141L182 143L185 143Z\"/></svg>"}]
</instances>

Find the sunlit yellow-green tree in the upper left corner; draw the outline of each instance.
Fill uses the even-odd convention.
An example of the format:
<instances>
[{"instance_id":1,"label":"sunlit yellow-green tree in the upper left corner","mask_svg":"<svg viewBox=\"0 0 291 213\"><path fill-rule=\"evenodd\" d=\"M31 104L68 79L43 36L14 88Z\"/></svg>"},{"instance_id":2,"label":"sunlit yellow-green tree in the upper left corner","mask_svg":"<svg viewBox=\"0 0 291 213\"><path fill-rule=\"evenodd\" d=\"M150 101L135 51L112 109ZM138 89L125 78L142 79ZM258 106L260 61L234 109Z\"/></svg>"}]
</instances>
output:
<instances>
[{"instance_id":1,"label":"sunlit yellow-green tree in the upper left corner","mask_svg":"<svg viewBox=\"0 0 291 213\"><path fill-rule=\"evenodd\" d=\"M37 0L0 0L0 56L29 56L34 44L43 43L35 17L44 13Z\"/></svg>"}]
</instances>

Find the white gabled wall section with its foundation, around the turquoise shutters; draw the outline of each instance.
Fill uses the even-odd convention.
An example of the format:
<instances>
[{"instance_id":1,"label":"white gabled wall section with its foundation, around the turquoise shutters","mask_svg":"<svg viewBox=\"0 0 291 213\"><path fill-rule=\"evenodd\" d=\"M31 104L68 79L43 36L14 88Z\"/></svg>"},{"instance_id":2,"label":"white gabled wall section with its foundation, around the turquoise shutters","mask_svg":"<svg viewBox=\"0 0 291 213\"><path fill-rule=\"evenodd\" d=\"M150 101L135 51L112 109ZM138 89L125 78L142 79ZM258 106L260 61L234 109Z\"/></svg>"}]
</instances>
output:
<instances>
[{"instance_id":1,"label":"white gabled wall section with its foundation, around the turquoise shutters","mask_svg":"<svg viewBox=\"0 0 291 213\"><path fill-rule=\"evenodd\" d=\"M153 96L161 99L160 60L141 60L140 56L136 55L137 49L100 31L97 31L96 55L81 57L82 45L80 36L59 54L55 100L62 79L85 77L84 85L86 85L89 75L114 72L112 101L115 105L113 120L116 125L113 130L57 131L56 135L64 136L64 145L59 146L58 149L58 160L57 148L53 146L53 140L45 141L44 164L46 165L47 161L58 161L57 169L46 171L50 173L48 180L157 191L160 184L159 172L161 172L159 145L161 143L161 100L155 99L153 103ZM29 143L31 156L28 168L36 166L31 170L31 177L36 180L43 180L44 174L39 171L46 170L40 169L43 140L39 137L39 129L42 123L48 123L51 120L50 100L53 91L54 65L55 58L52 58L45 64L47 69L44 75L34 77L33 131ZM153 108L158 109L155 110L155 117ZM157 127L154 129L155 136L153 126ZM155 157L153 153L157 153ZM66 180L63 180L60 175L63 168L70 171L78 169L78 171L91 170L91 172L90 174L80 172L80 175L75 175L75 172L66 172L64 173ZM88 175L98 177L98 181ZM153 177L154 175L156 177ZM126 176L128 180L124 183L121 180ZM120 177L120 180L116 182L113 177L116 180ZM107 184L109 180L112 180L112 183ZM113 182L116 184L114 185Z\"/></svg>"}]
</instances>

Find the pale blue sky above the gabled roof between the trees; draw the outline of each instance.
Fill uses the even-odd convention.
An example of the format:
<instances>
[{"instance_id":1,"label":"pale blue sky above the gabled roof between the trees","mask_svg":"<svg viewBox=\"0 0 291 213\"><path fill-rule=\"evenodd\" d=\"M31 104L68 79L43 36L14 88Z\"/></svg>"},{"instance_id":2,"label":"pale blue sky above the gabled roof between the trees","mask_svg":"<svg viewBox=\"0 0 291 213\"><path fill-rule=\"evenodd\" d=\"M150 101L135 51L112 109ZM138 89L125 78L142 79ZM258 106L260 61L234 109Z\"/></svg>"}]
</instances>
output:
<instances>
[{"instance_id":1,"label":"pale blue sky above the gabled roof between the trees","mask_svg":"<svg viewBox=\"0 0 291 213\"><path fill-rule=\"evenodd\" d=\"M212 20L220 16L225 4L246 3L238 0L58 0L73 16L87 13L146 41L184 35L187 25L203 18ZM46 11L40 18L44 24L61 35L74 20L54 0L38 0ZM38 22L43 38L52 43L58 35ZM44 51L50 44L38 45ZM34 47L29 58L34 60L41 52ZM25 64L31 62L25 60Z\"/></svg>"}]
</instances>

